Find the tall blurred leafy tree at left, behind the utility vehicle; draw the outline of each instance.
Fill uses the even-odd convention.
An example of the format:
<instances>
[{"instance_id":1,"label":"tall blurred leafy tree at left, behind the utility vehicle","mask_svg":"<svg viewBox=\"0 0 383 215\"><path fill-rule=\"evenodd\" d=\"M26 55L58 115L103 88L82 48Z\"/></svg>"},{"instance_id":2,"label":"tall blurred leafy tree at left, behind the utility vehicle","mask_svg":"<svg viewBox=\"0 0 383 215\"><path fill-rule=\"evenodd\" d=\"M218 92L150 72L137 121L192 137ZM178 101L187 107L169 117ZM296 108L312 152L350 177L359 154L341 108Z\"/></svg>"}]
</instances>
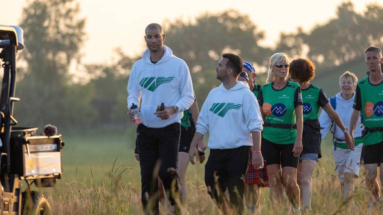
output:
<instances>
[{"instance_id":1,"label":"tall blurred leafy tree at left, behind the utility vehicle","mask_svg":"<svg viewBox=\"0 0 383 215\"><path fill-rule=\"evenodd\" d=\"M85 19L79 13L75 0L31 0L24 7L20 25L26 44L20 58L27 66L16 89L22 102L15 105L23 125L86 121L85 113L92 111L88 99L68 89L76 88L68 71L73 61L79 61L86 36ZM65 118L66 111L76 117Z\"/></svg>"}]
</instances>

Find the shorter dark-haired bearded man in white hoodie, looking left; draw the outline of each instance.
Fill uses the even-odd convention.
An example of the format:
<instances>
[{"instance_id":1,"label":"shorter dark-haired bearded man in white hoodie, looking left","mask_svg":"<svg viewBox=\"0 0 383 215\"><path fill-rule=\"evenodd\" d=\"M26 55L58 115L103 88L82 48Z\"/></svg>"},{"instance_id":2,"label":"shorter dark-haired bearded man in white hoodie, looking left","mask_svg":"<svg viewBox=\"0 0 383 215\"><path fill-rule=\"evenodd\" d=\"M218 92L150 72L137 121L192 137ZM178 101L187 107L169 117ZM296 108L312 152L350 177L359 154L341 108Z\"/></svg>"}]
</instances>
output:
<instances>
[{"instance_id":1,"label":"shorter dark-haired bearded man in white hoodie, looking left","mask_svg":"<svg viewBox=\"0 0 383 215\"><path fill-rule=\"evenodd\" d=\"M224 214L243 213L243 178L251 157L255 167L263 165L260 152L262 116L254 94L238 82L242 59L223 54L215 67L222 84L208 94L198 116L189 151L194 164L196 145L209 132L210 154L205 165L207 192ZM223 194L228 190L230 200Z\"/></svg>"}]
</instances>

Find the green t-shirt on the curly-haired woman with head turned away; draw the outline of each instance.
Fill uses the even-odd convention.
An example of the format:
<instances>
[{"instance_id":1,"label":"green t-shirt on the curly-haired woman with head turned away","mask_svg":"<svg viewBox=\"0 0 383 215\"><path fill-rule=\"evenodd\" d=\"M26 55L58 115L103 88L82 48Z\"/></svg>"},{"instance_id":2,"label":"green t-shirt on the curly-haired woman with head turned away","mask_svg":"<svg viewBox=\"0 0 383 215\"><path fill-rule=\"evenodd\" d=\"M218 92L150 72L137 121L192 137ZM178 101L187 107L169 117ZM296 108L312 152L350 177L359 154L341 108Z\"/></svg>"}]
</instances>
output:
<instances>
[{"instance_id":1,"label":"green t-shirt on the curly-haired woman with head turned away","mask_svg":"<svg viewBox=\"0 0 383 215\"><path fill-rule=\"evenodd\" d=\"M318 119L319 107L325 106L329 101L323 90L313 84L302 90L303 121Z\"/></svg>"}]
</instances>

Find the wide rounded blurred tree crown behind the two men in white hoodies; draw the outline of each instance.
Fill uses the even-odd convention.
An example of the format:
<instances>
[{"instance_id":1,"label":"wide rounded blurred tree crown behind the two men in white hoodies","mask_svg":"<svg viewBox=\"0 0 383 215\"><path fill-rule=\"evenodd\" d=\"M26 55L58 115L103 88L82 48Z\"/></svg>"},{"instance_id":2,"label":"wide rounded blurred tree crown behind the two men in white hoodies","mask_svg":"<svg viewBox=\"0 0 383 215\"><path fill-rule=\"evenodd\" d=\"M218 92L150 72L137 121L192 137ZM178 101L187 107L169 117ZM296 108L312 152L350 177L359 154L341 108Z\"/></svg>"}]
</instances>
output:
<instances>
[{"instance_id":1,"label":"wide rounded blurred tree crown behind the two men in white hoodies","mask_svg":"<svg viewBox=\"0 0 383 215\"><path fill-rule=\"evenodd\" d=\"M264 38L250 17L235 9L217 14L204 13L195 21L179 19L164 24L165 44L184 59L193 74L213 69L223 52L263 65L270 50L258 45Z\"/></svg>"}]
</instances>

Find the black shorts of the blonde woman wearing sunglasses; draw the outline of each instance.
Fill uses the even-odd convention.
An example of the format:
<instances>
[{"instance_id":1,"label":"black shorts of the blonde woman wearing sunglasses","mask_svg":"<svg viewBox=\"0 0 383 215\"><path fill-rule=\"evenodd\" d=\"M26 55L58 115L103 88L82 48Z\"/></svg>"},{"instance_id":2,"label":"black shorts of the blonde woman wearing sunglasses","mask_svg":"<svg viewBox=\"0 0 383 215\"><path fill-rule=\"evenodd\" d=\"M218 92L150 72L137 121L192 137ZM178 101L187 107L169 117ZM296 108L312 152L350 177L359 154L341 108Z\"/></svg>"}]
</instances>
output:
<instances>
[{"instance_id":1,"label":"black shorts of the blonde woman wearing sunglasses","mask_svg":"<svg viewBox=\"0 0 383 215\"><path fill-rule=\"evenodd\" d=\"M293 153L294 144L276 144L262 137L261 152L266 165L298 167L299 157Z\"/></svg>"}]
</instances>

